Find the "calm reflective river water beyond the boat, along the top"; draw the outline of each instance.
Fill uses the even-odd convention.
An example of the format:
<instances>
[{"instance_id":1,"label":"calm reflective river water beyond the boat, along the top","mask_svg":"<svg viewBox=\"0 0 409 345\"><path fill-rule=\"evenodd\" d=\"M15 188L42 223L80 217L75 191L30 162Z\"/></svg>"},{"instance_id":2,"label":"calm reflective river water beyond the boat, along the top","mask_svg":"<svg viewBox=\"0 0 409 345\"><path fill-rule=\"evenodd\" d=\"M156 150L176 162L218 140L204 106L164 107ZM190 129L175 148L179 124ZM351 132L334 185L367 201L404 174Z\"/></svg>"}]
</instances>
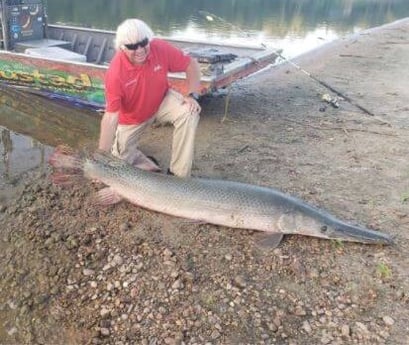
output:
<instances>
[{"instance_id":1,"label":"calm reflective river water beyond the boat, along the top","mask_svg":"<svg viewBox=\"0 0 409 345\"><path fill-rule=\"evenodd\" d=\"M270 44L286 57L409 16L407 0L59 0L50 22L115 30L128 17L156 34Z\"/></svg>"}]
</instances>

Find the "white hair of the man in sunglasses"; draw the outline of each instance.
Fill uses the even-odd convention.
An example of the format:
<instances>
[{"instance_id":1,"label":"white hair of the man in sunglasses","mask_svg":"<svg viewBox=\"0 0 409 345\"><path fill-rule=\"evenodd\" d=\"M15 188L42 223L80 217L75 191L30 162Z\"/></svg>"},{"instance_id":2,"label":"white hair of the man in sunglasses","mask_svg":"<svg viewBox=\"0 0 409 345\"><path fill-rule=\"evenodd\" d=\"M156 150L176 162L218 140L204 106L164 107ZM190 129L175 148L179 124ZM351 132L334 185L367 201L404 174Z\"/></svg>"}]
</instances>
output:
<instances>
[{"instance_id":1,"label":"white hair of the man in sunglasses","mask_svg":"<svg viewBox=\"0 0 409 345\"><path fill-rule=\"evenodd\" d=\"M140 19L126 19L116 29L115 49L119 50L124 44L133 44L145 38L151 40L152 29Z\"/></svg>"}]
</instances>

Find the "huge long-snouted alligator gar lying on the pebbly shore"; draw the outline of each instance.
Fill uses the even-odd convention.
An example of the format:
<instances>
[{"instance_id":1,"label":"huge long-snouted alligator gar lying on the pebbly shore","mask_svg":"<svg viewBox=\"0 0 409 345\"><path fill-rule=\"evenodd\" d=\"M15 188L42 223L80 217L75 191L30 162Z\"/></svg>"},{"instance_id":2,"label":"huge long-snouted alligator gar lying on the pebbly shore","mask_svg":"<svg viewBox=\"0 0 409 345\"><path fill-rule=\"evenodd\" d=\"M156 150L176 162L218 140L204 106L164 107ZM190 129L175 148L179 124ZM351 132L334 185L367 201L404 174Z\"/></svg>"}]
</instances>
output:
<instances>
[{"instance_id":1,"label":"huge long-snouted alligator gar lying on the pebbly shore","mask_svg":"<svg viewBox=\"0 0 409 345\"><path fill-rule=\"evenodd\" d=\"M368 244L393 242L387 234L349 224L272 188L149 172L100 153L82 159L57 149L50 163L57 172L58 168L78 168L85 177L108 186L98 193L102 203L126 199L137 206L172 216L264 231L273 234L275 245L284 234ZM58 182L58 178L56 180Z\"/></svg>"}]
</instances>

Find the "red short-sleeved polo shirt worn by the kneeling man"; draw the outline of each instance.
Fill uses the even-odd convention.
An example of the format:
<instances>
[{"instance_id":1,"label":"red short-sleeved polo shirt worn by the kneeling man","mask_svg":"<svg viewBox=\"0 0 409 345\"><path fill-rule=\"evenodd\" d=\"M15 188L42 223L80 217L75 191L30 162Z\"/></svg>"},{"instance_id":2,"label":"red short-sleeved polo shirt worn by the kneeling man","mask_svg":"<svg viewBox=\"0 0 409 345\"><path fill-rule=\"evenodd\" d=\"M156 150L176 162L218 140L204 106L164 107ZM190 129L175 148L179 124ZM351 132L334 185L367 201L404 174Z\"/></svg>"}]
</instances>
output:
<instances>
[{"instance_id":1,"label":"red short-sleeved polo shirt worn by the kneeling man","mask_svg":"<svg viewBox=\"0 0 409 345\"><path fill-rule=\"evenodd\" d=\"M150 42L145 63L133 65L118 51L105 74L108 112L119 111L119 124L135 125L152 117L169 89L168 72L186 71L190 57L161 39Z\"/></svg>"}]
</instances>

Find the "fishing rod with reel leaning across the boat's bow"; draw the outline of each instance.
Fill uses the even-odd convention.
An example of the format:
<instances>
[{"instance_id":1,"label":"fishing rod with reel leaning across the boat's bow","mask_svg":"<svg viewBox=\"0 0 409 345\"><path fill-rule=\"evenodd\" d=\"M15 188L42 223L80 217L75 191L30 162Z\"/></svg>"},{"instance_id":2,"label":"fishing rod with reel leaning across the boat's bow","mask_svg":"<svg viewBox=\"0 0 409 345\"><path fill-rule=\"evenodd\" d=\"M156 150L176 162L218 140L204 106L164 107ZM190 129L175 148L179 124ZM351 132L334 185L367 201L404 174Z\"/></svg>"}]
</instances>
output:
<instances>
[{"instance_id":1,"label":"fishing rod with reel leaning across the boat's bow","mask_svg":"<svg viewBox=\"0 0 409 345\"><path fill-rule=\"evenodd\" d=\"M218 21L227 24L228 26L230 26L232 29L234 29L235 31L238 31L239 33L241 33L242 35L246 36L246 37L250 37L250 34L246 31L244 31L242 28L238 27L237 25L234 25L233 23L230 23L229 21L227 21L226 19L219 17L213 13L210 13L208 11L204 11L204 10L200 10L198 11L198 13L204 17L207 21L212 22L214 21L214 19L217 19ZM265 43L261 43L261 46L263 48L268 48L267 44ZM304 68L302 68L300 65L296 64L294 61L291 61L290 59L286 58L281 51L277 50L277 49L273 49L273 52L282 60L284 60L286 63L290 64L291 66L293 66L295 69L297 69L298 71L304 73L306 76L308 76L309 78L311 78L312 80L314 80L315 82L319 83L321 86L325 87L326 89L332 91L333 93L335 93L337 96L342 97L343 99L345 99L347 102L349 102L350 104L354 105L355 107L357 107L358 109L362 110L364 113L371 115L371 116L375 116L374 113L372 113L371 111L369 111L368 109L366 109L365 107L361 106L360 104L356 103L353 99L351 99L350 97L346 96L344 93L342 93L341 91L335 89L333 86L327 84L325 81L322 81L321 79L319 79L318 77L314 76L312 73L308 72L307 70L305 70ZM325 96L325 95L324 95ZM324 97L323 97L324 98ZM337 104L336 100L331 100L331 98L329 97L329 99L324 98L324 100L328 101L329 103L331 103L334 107L338 108L339 105Z\"/></svg>"}]
</instances>

